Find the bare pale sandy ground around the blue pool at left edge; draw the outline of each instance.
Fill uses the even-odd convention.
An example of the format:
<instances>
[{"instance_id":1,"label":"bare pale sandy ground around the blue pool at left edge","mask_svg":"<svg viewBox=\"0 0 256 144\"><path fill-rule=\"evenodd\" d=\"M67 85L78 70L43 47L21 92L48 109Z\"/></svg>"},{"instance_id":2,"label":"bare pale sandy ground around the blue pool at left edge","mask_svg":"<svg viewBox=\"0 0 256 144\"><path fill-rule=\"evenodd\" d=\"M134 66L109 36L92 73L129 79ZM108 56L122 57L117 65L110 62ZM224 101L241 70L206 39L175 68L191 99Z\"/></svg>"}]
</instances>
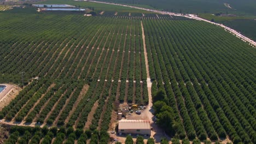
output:
<instances>
[{"instance_id":1,"label":"bare pale sandy ground around the blue pool at left edge","mask_svg":"<svg viewBox=\"0 0 256 144\"><path fill-rule=\"evenodd\" d=\"M4 91L0 93L0 111L4 106L8 105L19 93L19 88L16 85L0 84L7 86ZM21 88L20 88L21 91Z\"/></svg>"}]
</instances>

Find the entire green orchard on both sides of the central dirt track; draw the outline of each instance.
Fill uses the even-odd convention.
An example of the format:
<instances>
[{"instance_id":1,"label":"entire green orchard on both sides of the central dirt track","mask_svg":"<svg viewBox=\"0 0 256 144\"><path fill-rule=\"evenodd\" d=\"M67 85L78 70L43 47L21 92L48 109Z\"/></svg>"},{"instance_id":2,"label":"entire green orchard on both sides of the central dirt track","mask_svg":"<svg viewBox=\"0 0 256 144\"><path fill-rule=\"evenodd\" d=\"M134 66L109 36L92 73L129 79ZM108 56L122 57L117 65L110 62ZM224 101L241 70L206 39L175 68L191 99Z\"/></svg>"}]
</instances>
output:
<instances>
[{"instance_id":1,"label":"entire green orchard on both sides of the central dirt track","mask_svg":"<svg viewBox=\"0 0 256 144\"><path fill-rule=\"evenodd\" d=\"M108 143L119 104L151 103L149 76L171 137L256 143L255 48L210 23L96 6L102 15L0 12L0 82L24 75L0 112L18 125L5 143Z\"/></svg>"}]
</instances>

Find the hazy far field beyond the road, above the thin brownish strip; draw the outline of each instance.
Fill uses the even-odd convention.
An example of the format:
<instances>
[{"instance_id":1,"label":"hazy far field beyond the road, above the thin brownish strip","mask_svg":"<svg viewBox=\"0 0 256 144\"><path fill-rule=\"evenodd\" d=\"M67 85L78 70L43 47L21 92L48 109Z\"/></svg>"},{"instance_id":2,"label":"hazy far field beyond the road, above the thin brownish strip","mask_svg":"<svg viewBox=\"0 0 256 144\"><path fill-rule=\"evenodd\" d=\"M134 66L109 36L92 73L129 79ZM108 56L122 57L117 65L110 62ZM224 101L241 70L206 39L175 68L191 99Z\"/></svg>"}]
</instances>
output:
<instances>
[{"instance_id":1,"label":"hazy far field beyond the road, above the thin brownish strip","mask_svg":"<svg viewBox=\"0 0 256 144\"><path fill-rule=\"evenodd\" d=\"M155 9L172 11L175 13L232 13L239 15L255 15L256 3L254 0L98 0L102 2L124 3L130 5L140 5L144 8L153 7ZM226 7L226 5L230 7Z\"/></svg>"}]
</instances>

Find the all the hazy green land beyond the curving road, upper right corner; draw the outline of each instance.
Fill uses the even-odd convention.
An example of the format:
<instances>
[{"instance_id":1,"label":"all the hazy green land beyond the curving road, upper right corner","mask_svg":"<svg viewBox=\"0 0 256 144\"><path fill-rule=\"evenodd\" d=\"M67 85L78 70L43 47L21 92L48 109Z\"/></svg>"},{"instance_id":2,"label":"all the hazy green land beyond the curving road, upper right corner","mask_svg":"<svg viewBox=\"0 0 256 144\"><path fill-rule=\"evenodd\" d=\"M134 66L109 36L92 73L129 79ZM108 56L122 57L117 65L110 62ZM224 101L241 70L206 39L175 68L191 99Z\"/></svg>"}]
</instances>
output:
<instances>
[{"instance_id":1,"label":"all the hazy green land beyond the curving road, upper right corner","mask_svg":"<svg viewBox=\"0 0 256 144\"><path fill-rule=\"evenodd\" d=\"M174 13L197 14L203 19L214 20L256 40L256 2L253 0L206 1L206 0L100 0L103 2L138 5L138 7L171 11ZM216 16L214 14L223 14Z\"/></svg>"}]
</instances>

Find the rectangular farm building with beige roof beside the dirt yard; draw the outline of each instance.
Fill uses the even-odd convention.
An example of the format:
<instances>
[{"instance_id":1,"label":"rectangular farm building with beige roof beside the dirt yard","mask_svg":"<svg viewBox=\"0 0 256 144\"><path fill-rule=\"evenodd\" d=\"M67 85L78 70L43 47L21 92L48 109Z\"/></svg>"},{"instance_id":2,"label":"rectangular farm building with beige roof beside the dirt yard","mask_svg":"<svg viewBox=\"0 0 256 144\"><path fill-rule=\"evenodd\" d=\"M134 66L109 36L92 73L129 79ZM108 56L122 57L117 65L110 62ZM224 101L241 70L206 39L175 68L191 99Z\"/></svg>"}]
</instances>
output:
<instances>
[{"instance_id":1,"label":"rectangular farm building with beige roof beside the dirt yard","mask_svg":"<svg viewBox=\"0 0 256 144\"><path fill-rule=\"evenodd\" d=\"M119 134L150 135L150 122L143 120L126 120L118 122Z\"/></svg>"}]
</instances>

